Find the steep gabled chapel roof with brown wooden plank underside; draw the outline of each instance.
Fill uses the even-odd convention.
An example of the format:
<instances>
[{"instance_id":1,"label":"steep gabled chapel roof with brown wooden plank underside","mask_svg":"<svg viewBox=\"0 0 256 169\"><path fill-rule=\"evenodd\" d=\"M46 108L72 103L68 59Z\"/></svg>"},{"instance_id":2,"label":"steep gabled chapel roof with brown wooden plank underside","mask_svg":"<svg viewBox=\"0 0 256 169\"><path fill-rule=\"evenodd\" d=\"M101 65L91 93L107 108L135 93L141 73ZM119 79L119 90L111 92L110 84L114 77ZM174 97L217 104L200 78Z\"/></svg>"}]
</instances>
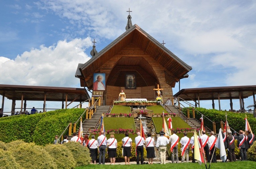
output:
<instances>
[{"instance_id":1,"label":"steep gabled chapel roof with brown wooden plank underside","mask_svg":"<svg viewBox=\"0 0 256 169\"><path fill-rule=\"evenodd\" d=\"M98 71L104 63L129 44L138 46L157 63L162 65L167 70L166 76L169 77L167 78L167 83L171 86L178 82L179 79L187 77L187 73L192 69L192 67L180 60L176 55L135 24L85 64L79 64L76 77L80 79L87 78L87 81L88 77L92 77L92 74ZM147 70L143 65L145 63L141 60L136 61L135 57L126 57L124 61L122 60L121 66L132 66L135 64L143 67L147 72L150 72L150 70ZM84 84L84 81L80 80L80 82L81 86L83 86L82 84ZM87 86L88 84L84 85Z\"/></svg>"}]
</instances>

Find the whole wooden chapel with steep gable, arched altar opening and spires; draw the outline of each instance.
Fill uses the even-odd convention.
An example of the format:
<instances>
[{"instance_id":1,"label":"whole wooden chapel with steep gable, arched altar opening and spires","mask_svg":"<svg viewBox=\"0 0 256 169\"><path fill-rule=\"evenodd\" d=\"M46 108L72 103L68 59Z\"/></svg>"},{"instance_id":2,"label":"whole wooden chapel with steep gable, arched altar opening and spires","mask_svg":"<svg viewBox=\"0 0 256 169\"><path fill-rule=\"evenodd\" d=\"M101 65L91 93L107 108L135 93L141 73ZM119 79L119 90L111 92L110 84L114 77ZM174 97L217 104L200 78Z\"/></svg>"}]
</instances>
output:
<instances>
[{"instance_id":1,"label":"whole wooden chapel with steep gable, arched altar opening and spires","mask_svg":"<svg viewBox=\"0 0 256 169\"><path fill-rule=\"evenodd\" d=\"M96 92L101 95L101 105L111 105L121 90L126 98L155 100L157 93L153 88L157 85L163 88L166 102L173 96L172 87L187 78L192 68L138 25L132 26L130 13L127 18L126 31L99 53L93 45L92 58L78 64L75 77L80 79L81 87L92 90L94 74L105 75L105 90Z\"/></svg>"}]
</instances>

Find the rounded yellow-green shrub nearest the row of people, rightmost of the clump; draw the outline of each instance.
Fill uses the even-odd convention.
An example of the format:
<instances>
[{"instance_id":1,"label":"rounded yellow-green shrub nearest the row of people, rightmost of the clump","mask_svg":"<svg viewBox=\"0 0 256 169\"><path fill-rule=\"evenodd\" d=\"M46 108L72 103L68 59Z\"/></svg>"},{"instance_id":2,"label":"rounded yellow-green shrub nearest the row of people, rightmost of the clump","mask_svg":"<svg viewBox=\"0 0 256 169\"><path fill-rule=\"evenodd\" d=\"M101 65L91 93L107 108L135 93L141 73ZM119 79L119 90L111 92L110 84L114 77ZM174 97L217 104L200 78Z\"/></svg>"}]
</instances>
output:
<instances>
[{"instance_id":1,"label":"rounded yellow-green shrub nearest the row of people, rightmost of the clump","mask_svg":"<svg viewBox=\"0 0 256 169\"><path fill-rule=\"evenodd\" d=\"M80 143L73 141L69 141L62 145L71 151L76 161L76 166L85 166L91 163L90 152L87 147L84 147Z\"/></svg>"}]
</instances>

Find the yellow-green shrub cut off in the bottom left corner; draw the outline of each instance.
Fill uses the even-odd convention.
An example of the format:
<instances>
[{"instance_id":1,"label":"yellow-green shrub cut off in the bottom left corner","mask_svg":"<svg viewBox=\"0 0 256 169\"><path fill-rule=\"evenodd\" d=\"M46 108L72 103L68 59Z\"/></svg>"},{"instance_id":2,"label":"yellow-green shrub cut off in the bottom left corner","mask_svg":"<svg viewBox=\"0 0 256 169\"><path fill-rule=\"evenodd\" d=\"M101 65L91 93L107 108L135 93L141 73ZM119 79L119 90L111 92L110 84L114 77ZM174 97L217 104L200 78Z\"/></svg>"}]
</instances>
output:
<instances>
[{"instance_id":1,"label":"yellow-green shrub cut off in the bottom left corner","mask_svg":"<svg viewBox=\"0 0 256 169\"><path fill-rule=\"evenodd\" d=\"M22 169L9 151L0 149L0 169Z\"/></svg>"}]
</instances>

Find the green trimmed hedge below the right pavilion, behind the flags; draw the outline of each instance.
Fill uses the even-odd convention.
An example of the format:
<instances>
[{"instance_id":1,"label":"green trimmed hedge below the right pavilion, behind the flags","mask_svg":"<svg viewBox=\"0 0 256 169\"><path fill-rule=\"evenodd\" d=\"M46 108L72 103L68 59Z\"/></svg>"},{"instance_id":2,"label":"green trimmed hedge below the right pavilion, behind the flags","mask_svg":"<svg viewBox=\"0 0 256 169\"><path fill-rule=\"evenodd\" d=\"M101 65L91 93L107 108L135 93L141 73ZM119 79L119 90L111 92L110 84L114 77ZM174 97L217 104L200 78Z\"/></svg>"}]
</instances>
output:
<instances>
[{"instance_id":1,"label":"green trimmed hedge below the right pavilion, behind the flags","mask_svg":"<svg viewBox=\"0 0 256 169\"><path fill-rule=\"evenodd\" d=\"M233 128L236 131L239 130L245 130L245 115L247 115L247 119L249 121L249 124L252 128L252 132L256 132L256 118L253 117L252 114L249 113L234 113L230 111L219 111L216 109L206 109L206 108L196 108L197 111L201 112L203 115L205 115L207 118L209 118L211 121L220 122L221 120L225 122L226 120L226 113L227 113L227 120L229 123L229 126ZM195 111L195 118L199 120L201 118L201 114ZM182 109L183 114L187 115L187 109ZM190 117L192 117L192 109L189 111ZM213 130L212 122L210 122L208 119L204 118L204 125L206 125L208 128ZM216 123L216 130L220 128L220 123Z\"/></svg>"}]
</instances>

